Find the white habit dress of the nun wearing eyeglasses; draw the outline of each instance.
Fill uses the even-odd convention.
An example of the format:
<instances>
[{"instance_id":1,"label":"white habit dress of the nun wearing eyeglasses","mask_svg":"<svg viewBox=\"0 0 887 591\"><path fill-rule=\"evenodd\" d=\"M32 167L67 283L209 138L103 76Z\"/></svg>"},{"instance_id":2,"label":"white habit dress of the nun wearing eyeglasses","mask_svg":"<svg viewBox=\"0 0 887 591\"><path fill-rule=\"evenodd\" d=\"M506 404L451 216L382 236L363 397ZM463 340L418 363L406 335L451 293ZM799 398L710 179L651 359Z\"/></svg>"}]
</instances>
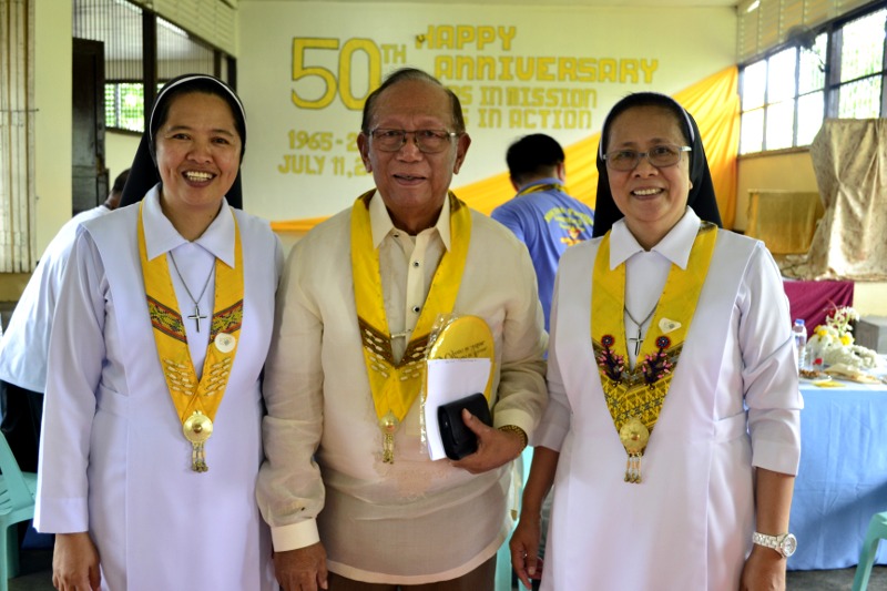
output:
<instances>
[{"instance_id":1,"label":"white habit dress of the nun wearing eyeglasses","mask_svg":"<svg viewBox=\"0 0 887 591\"><path fill-rule=\"evenodd\" d=\"M613 225L609 268L626 264L635 318L656 305L671 265L687 265L699 228L687 210L645 252L624 221ZM794 475L799 460L803 401L778 269L759 241L717 230L643 480L629 483L589 329L600 244L570 248L555 285L551 400L536 438L560 451L542 589L737 589L752 548L753 467ZM628 319L625 332L636 334ZM628 354L640 363L633 346Z\"/></svg>"}]
</instances>

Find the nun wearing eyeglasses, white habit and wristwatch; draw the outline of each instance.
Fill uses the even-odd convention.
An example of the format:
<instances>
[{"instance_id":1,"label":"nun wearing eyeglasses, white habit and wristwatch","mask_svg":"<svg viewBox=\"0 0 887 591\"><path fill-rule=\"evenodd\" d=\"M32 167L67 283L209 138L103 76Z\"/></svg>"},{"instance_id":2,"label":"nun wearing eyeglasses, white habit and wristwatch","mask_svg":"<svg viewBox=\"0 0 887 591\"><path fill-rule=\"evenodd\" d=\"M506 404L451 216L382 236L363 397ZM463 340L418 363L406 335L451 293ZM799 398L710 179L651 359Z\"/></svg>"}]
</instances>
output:
<instances>
[{"instance_id":1,"label":"nun wearing eyeglasses, white habit and wristwatch","mask_svg":"<svg viewBox=\"0 0 887 591\"><path fill-rule=\"evenodd\" d=\"M551 401L512 561L542 589L784 589L799 410L788 306L761 242L717 227L699 129L636 93L608 115L599 237L561 259Z\"/></svg>"}]
</instances>

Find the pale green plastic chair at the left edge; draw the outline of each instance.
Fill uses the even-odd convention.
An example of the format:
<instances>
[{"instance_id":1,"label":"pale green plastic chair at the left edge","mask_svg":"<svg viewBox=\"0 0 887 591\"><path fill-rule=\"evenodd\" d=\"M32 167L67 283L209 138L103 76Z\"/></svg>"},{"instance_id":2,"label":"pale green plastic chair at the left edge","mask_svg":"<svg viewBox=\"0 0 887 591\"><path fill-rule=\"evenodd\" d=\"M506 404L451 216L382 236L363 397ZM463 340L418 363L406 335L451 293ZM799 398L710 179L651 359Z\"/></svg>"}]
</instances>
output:
<instances>
[{"instance_id":1,"label":"pale green plastic chair at the left edge","mask_svg":"<svg viewBox=\"0 0 887 591\"><path fill-rule=\"evenodd\" d=\"M7 580L19 574L19 531L14 526L34 517L37 475L19 469L6 435L0 437L0 591L7 591Z\"/></svg>"}]
</instances>

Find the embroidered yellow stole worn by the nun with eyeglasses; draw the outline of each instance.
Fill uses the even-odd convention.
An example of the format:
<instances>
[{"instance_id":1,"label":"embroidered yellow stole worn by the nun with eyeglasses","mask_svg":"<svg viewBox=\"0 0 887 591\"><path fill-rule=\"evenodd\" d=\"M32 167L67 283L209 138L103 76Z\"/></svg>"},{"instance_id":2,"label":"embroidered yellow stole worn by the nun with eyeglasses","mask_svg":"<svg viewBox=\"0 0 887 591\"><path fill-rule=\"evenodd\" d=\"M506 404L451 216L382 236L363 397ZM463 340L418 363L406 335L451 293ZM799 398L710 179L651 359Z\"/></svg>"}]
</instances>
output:
<instances>
[{"instance_id":1,"label":"embroidered yellow stole worn by the nun with eyeglasses","mask_svg":"<svg viewBox=\"0 0 887 591\"><path fill-rule=\"evenodd\" d=\"M610 271L610 232L593 272L591 337L606 407L628 454L626 482L641 482L641 457L656 425L714 254L717 228L703 222L686 269L672 264L633 369L625 338L625 263Z\"/></svg>"}]
</instances>

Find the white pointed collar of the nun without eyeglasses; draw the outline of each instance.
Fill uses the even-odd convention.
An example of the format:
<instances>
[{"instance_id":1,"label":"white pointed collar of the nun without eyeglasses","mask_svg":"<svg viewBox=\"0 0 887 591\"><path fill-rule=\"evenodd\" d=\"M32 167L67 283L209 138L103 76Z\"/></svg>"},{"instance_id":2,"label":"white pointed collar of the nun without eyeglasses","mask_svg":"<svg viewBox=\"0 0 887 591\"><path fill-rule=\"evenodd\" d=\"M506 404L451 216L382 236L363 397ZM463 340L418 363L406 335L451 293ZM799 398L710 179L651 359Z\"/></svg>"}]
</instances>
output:
<instances>
[{"instance_id":1,"label":"white pointed collar of the nun without eyeglasses","mask_svg":"<svg viewBox=\"0 0 887 591\"><path fill-rule=\"evenodd\" d=\"M175 230L161 210L160 183L147 192L143 202L142 216L149 261L188 242ZM234 214L228 207L227 200L222 197L218 215L201 237L194 241L194 244L200 244L226 265L234 266Z\"/></svg>"}]
</instances>

